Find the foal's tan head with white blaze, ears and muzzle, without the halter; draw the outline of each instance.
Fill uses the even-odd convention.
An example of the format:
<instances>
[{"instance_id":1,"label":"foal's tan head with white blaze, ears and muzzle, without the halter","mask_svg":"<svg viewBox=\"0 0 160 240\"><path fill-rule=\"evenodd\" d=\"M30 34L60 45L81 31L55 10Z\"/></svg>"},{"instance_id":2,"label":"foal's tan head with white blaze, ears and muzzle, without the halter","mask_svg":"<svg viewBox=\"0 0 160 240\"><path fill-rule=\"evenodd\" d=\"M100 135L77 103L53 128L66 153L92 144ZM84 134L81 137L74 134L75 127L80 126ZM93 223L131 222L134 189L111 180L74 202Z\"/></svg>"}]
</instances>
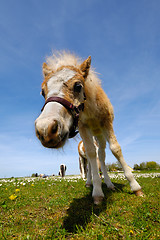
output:
<instances>
[{"instance_id":1,"label":"foal's tan head with white blaze, ears and muzzle, without the halter","mask_svg":"<svg viewBox=\"0 0 160 240\"><path fill-rule=\"evenodd\" d=\"M47 102L51 97L60 97L75 106L84 101L84 84L91 64L91 57L81 65L62 65L52 68L43 64L44 81L42 95L47 104L35 121L36 135L48 148L62 147L73 128L73 115L59 102Z\"/></svg>"}]
</instances>

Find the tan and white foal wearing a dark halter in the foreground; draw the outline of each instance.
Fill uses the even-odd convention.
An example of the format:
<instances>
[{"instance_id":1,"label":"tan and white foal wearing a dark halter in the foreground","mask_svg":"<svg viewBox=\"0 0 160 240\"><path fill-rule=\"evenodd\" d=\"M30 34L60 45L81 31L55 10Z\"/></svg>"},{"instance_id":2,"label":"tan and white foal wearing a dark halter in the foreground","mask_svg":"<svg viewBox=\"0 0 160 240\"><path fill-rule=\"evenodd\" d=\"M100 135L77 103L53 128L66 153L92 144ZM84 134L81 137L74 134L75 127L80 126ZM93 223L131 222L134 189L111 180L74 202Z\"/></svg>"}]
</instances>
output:
<instances>
[{"instance_id":1,"label":"tan and white foal wearing a dark halter in the foreground","mask_svg":"<svg viewBox=\"0 0 160 240\"><path fill-rule=\"evenodd\" d=\"M100 162L105 162L108 141L110 150L122 165L131 190L142 196L141 186L126 164L114 134L113 107L90 65L91 57L82 62L66 52L57 52L47 58L47 63L43 64L42 83L45 104L35 121L36 135L43 146L60 148L69 137L76 135L78 126L92 169L92 196L95 204L102 202L104 194L98 174L93 136L98 142Z\"/></svg>"}]
</instances>

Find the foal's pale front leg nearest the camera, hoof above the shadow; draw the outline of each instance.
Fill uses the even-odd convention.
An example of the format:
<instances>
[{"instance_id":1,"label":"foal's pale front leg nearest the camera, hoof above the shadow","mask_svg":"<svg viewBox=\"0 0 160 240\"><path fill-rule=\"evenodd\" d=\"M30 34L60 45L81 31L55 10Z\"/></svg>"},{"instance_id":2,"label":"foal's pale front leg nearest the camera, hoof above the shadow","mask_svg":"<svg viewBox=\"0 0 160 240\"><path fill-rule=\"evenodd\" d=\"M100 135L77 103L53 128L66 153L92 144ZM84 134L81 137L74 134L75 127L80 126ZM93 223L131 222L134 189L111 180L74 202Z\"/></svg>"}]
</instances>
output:
<instances>
[{"instance_id":1,"label":"foal's pale front leg nearest the camera, hoof above the shadow","mask_svg":"<svg viewBox=\"0 0 160 240\"><path fill-rule=\"evenodd\" d=\"M88 162L91 165L92 176L93 176L93 192L92 196L95 204L100 204L103 200L104 194L101 187L101 179L98 173L97 159L96 159L96 148L93 142L93 136L88 128L81 128L80 134L86 150Z\"/></svg>"}]
</instances>

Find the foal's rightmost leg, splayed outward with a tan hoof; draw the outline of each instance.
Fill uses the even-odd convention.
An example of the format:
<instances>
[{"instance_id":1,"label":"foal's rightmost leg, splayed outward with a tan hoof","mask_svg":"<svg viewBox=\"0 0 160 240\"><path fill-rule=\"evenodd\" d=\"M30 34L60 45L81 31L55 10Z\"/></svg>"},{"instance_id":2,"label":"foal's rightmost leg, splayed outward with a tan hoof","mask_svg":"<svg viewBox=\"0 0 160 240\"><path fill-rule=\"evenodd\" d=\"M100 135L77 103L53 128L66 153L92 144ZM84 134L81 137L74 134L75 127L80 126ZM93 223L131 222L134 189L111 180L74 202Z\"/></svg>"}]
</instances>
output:
<instances>
[{"instance_id":1,"label":"foal's rightmost leg, splayed outward with a tan hoof","mask_svg":"<svg viewBox=\"0 0 160 240\"><path fill-rule=\"evenodd\" d=\"M106 134L107 140L110 145L110 149L113 153L113 155L117 158L117 160L121 163L124 175L127 178L127 180L130 183L131 190L137 195L137 196L142 196L143 192L141 190L141 186L138 184L138 182L135 180L133 173L129 169L127 163L125 162L123 155L122 155L122 150L117 142L116 136L114 134L113 128L110 126L110 129L107 130Z\"/></svg>"}]
</instances>

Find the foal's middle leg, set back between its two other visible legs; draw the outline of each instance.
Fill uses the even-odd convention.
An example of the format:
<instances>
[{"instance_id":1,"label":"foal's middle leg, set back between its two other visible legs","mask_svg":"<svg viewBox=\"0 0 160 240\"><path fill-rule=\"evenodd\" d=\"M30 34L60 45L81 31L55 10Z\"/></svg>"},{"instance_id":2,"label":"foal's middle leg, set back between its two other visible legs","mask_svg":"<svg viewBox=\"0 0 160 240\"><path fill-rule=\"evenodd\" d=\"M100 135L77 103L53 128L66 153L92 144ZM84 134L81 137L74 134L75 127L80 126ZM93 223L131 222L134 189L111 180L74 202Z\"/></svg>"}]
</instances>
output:
<instances>
[{"instance_id":1,"label":"foal's middle leg, set back between its two other visible legs","mask_svg":"<svg viewBox=\"0 0 160 240\"><path fill-rule=\"evenodd\" d=\"M98 144L99 144L99 148L98 148L98 157L99 157L99 161L101 163L101 169L103 172L103 176L104 176L104 182L107 185L107 187L109 189L114 190L114 184L111 182L108 173L107 173L107 169L105 166L105 148L106 148L106 140L103 136L97 136L96 137Z\"/></svg>"}]
</instances>

